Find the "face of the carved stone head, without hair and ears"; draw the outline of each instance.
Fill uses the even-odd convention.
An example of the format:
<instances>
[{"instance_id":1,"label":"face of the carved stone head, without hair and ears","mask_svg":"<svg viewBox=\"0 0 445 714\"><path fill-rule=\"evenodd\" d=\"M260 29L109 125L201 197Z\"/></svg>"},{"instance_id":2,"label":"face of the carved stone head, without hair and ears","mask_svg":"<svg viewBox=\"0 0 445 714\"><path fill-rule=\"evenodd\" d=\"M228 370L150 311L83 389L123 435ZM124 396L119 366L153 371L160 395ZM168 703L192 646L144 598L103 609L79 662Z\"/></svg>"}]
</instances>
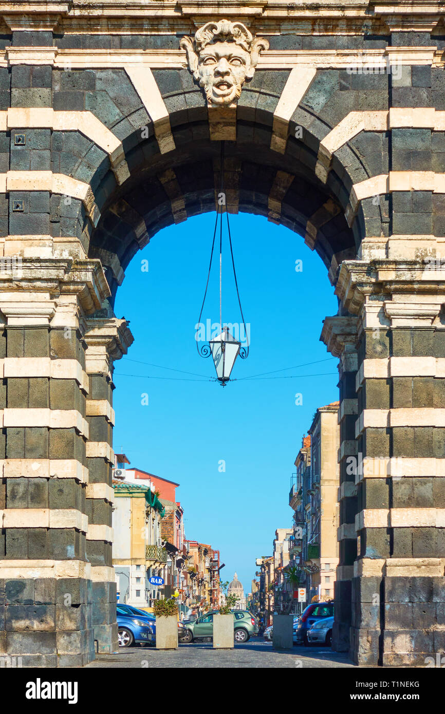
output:
<instances>
[{"instance_id":1,"label":"face of the carved stone head, without hair and ears","mask_svg":"<svg viewBox=\"0 0 445 714\"><path fill-rule=\"evenodd\" d=\"M251 69L250 53L235 42L214 42L199 54L199 84L209 106L234 104Z\"/></svg>"}]
</instances>

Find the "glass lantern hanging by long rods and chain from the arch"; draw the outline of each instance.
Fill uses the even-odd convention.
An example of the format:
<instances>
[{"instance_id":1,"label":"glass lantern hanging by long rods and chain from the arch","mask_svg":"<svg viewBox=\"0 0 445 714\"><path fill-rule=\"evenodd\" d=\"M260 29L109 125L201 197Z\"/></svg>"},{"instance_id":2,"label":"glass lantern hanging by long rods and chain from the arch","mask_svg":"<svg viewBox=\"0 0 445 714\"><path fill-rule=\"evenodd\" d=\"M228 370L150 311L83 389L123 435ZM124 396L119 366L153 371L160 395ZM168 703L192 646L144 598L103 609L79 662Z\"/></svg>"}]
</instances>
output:
<instances>
[{"instance_id":1,"label":"glass lantern hanging by long rods and chain from the arch","mask_svg":"<svg viewBox=\"0 0 445 714\"><path fill-rule=\"evenodd\" d=\"M226 386L226 383L230 381L231 371L234 367L234 363L235 363L237 356L239 355L241 357L241 359L246 359L246 357L248 356L249 342L247 341L246 322L244 321L243 310L241 308L241 299L239 297L238 281L236 280L234 251L233 251L232 244L231 244L231 234L230 234L230 226L229 226L229 212L227 211L227 207L226 207L226 203L225 203L226 193L224 192L224 186L223 186L223 176L224 176L223 168L224 168L224 141L221 141L221 189L220 189L219 196L224 196L224 202L218 201L218 206L216 208L216 221L215 221L213 242L211 244L209 273L207 275L206 290L204 292L204 300L202 301L201 312L199 313L199 320L198 320L198 326L199 326L199 325L201 325L202 311L204 310L204 303L206 301L207 288L209 287L211 263L212 263L213 256L214 256L216 230L218 228L218 223L219 223L219 329L221 330L221 333L218 336L210 339L209 343L202 346L201 349L198 346L198 338L196 338L196 348L198 349L198 353L201 357L209 357L210 355L212 356L214 365L215 365L215 369L216 369L216 378L219 381L219 383L221 384L221 386L224 387L224 386ZM244 347L244 346L241 347L241 342L237 341L234 338L234 336L231 335L231 333L229 332L229 328L224 327L223 322L222 322L222 263L223 263L223 261L222 261L222 246L223 246L222 214L223 214L223 206L225 207L225 213L226 213L227 233L228 233L228 237L229 237L229 247L230 247L230 254L231 254L231 265L232 265L232 268L234 271L236 295L238 297L239 311L241 313L242 324L244 326L244 335L246 336L246 343L247 343L246 347Z\"/></svg>"}]
</instances>

